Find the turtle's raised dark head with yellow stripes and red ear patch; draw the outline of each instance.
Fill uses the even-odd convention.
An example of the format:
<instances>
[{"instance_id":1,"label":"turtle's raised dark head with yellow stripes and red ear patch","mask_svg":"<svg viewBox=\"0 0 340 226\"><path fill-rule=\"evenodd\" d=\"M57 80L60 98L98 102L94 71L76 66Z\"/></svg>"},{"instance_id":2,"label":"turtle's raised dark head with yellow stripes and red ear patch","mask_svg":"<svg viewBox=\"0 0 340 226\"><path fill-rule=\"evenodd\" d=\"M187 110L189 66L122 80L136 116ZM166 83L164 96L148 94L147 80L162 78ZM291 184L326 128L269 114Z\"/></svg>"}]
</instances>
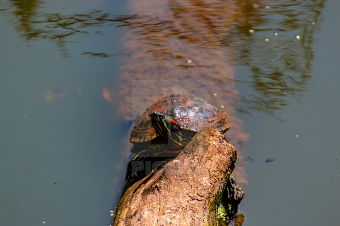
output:
<instances>
[{"instance_id":1,"label":"turtle's raised dark head with yellow stripes and red ear patch","mask_svg":"<svg viewBox=\"0 0 340 226\"><path fill-rule=\"evenodd\" d=\"M168 137L170 132L181 130L180 123L175 118L157 111L151 113L151 124L156 132L163 137Z\"/></svg>"}]
</instances>

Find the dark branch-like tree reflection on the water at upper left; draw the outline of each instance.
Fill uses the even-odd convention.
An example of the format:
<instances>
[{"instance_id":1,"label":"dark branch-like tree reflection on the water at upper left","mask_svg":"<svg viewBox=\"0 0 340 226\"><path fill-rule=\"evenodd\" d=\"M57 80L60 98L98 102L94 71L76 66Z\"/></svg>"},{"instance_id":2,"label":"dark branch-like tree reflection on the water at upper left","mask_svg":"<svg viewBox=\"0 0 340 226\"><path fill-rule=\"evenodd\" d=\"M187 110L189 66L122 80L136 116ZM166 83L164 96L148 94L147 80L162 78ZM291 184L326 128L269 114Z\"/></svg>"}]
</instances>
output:
<instances>
[{"instance_id":1,"label":"dark branch-like tree reflection on the water at upper left","mask_svg":"<svg viewBox=\"0 0 340 226\"><path fill-rule=\"evenodd\" d=\"M69 57L69 51L66 43L70 42L67 38L72 35L89 34L86 30L92 26L99 25L116 25L117 22L124 22L133 18L134 16L112 16L109 13L102 13L103 11L89 9L86 13L75 13L72 15L63 15L61 13L43 13L44 1L12 0L12 5L3 5L4 13L12 18L11 22L17 29L19 35L25 41L50 39L55 41L58 50L60 50L63 57ZM15 15L15 18L12 17ZM97 31L96 33L101 33ZM117 54L107 53L91 53L93 56L116 56Z\"/></svg>"}]
</instances>

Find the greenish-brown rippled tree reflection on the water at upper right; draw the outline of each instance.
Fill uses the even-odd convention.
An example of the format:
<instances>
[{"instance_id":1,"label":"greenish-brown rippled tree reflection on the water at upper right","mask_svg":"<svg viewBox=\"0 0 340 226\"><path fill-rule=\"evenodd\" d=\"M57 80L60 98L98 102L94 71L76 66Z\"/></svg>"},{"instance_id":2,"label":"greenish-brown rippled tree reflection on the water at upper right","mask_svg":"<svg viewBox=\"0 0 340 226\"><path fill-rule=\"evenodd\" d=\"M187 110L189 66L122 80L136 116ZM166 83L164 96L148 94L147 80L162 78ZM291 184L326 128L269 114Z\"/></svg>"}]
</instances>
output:
<instances>
[{"instance_id":1,"label":"greenish-brown rippled tree reflection on the water at upper right","mask_svg":"<svg viewBox=\"0 0 340 226\"><path fill-rule=\"evenodd\" d=\"M253 89L242 97L240 111L273 114L290 98L300 101L311 79L313 34L324 2L238 2L240 17L222 43L237 48L237 63L251 71Z\"/></svg>"}]
</instances>

